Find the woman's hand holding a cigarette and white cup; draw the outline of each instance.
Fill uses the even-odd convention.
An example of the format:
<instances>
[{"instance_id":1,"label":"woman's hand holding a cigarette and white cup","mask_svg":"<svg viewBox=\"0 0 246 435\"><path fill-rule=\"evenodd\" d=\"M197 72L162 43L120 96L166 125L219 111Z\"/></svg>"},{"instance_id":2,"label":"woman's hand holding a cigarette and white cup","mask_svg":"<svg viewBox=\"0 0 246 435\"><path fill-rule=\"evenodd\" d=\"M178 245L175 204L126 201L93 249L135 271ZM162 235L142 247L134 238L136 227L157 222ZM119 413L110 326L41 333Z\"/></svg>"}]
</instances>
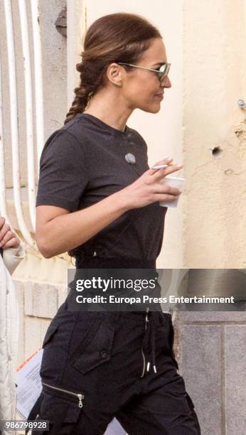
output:
<instances>
[{"instance_id":1,"label":"woman's hand holding a cigarette and white cup","mask_svg":"<svg viewBox=\"0 0 246 435\"><path fill-rule=\"evenodd\" d=\"M169 166L163 169L148 169L137 181L119 190L118 194L122 195L122 202L127 210L144 207L156 201L169 202L178 198L181 190L160 183L162 178L170 173L180 171L182 168L182 165L175 165L171 161L172 159L164 159L155 163L154 166L161 164L168 164Z\"/></svg>"}]
</instances>

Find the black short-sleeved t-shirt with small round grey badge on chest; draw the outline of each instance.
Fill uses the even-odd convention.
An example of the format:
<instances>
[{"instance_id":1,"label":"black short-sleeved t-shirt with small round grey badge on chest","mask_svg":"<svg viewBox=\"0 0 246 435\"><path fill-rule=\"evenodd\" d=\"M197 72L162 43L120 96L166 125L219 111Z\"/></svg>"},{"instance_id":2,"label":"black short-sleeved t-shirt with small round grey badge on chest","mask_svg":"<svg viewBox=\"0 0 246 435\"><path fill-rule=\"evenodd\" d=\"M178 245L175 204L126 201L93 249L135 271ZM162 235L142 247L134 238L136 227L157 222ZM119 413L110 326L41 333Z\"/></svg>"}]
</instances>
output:
<instances>
[{"instance_id":1,"label":"black short-sleeved t-shirt with small round grey badge on chest","mask_svg":"<svg viewBox=\"0 0 246 435\"><path fill-rule=\"evenodd\" d=\"M133 154L136 163L128 163ZM90 114L77 114L46 141L41 155L36 205L74 212L121 190L147 171L147 146L137 131L114 129ZM152 203L129 210L72 254L156 260L166 207Z\"/></svg>"}]
</instances>

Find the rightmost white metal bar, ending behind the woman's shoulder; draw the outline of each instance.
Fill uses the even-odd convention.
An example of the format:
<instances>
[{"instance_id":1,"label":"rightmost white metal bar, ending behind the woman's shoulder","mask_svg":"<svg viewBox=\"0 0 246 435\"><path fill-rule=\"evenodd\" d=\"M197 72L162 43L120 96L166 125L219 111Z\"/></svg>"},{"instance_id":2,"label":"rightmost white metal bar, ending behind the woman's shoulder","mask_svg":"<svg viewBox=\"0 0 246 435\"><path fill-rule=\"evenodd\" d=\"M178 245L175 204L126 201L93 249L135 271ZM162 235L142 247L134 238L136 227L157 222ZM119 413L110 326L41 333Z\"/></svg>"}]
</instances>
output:
<instances>
[{"instance_id":1,"label":"rightmost white metal bar, ending behind the woman's shoulder","mask_svg":"<svg viewBox=\"0 0 246 435\"><path fill-rule=\"evenodd\" d=\"M44 145L43 134L43 75L42 75L42 55L41 55L41 33L39 25L38 0L31 0L31 16L33 28L33 47L34 47L34 82L35 82L35 102L36 102L36 140L38 167L41 152Z\"/></svg>"}]
</instances>

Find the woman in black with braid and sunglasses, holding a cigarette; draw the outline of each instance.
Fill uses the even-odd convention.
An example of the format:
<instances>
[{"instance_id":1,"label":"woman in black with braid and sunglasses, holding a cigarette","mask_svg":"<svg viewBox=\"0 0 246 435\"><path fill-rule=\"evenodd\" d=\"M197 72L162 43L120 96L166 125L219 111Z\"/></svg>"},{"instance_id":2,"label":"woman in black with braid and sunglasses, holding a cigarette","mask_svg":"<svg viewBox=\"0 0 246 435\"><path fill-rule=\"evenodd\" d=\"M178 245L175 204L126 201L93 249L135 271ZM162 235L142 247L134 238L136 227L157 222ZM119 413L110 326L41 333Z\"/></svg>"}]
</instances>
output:
<instances>
[{"instance_id":1,"label":"woman in black with braid and sunglasses, holding a cigarette","mask_svg":"<svg viewBox=\"0 0 246 435\"><path fill-rule=\"evenodd\" d=\"M45 257L68 251L77 269L155 269L167 210L159 201L181 193L160 181L181 165L166 158L150 169L127 119L159 112L169 68L161 34L140 16L103 16L88 29L75 100L41 156L36 240ZM43 342L38 419L53 435L101 435L113 417L129 435L200 434L172 345L161 309L75 312L66 300Z\"/></svg>"}]
</instances>

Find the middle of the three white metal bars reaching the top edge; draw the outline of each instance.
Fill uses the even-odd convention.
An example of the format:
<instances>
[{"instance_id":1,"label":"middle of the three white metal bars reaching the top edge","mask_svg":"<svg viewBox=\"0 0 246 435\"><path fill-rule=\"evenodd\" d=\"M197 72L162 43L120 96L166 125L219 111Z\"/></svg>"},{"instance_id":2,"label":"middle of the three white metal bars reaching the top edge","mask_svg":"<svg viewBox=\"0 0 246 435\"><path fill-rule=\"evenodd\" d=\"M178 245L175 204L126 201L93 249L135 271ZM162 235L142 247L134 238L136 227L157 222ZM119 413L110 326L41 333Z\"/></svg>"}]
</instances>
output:
<instances>
[{"instance_id":1,"label":"middle of the three white metal bars reaching the top edge","mask_svg":"<svg viewBox=\"0 0 246 435\"><path fill-rule=\"evenodd\" d=\"M27 173L28 173L28 206L35 230L35 165L34 165L34 143L33 143L33 102L32 102L32 83L31 83L31 60L30 45L28 38L28 21L26 14L26 0L18 0L18 8L21 22L21 43L23 50L23 67L26 96L26 147L27 147Z\"/></svg>"}]
</instances>

